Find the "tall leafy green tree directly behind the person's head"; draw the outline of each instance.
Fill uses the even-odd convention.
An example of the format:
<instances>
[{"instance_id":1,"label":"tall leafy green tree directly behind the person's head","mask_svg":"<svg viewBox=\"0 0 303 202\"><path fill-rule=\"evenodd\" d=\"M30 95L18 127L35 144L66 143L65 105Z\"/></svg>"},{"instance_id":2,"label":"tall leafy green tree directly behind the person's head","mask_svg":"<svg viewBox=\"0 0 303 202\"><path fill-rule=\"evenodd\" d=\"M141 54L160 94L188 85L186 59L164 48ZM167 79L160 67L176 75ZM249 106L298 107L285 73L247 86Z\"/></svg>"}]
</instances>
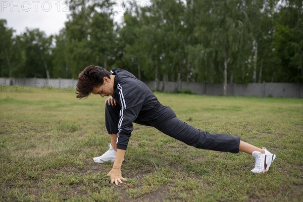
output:
<instances>
[{"instance_id":1,"label":"tall leafy green tree directly behind the person's head","mask_svg":"<svg viewBox=\"0 0 303 202\"><path fill-rule=\"evenodd\" d=\"M66 37L69 48L67 65L76 78L88 64L108 68L114 63L114 3L110 0L71 0Z\"/></svg>"}]
</instances>

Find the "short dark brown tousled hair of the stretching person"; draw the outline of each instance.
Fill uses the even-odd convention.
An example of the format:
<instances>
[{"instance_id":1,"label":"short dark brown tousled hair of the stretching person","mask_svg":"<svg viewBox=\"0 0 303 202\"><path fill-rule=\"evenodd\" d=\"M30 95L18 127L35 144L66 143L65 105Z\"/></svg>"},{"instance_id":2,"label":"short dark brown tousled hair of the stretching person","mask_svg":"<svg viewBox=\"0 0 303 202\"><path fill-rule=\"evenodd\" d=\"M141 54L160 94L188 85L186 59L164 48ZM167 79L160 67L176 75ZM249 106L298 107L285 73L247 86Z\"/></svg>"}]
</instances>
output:
<instances>
[{"instance_id":1,"label":"short dark brown tousled hair of the stretching person","mask_svg":"<svg viewBox=\"0 0 303 202\"><path fill-rule=\"evenodd\" d=\"M78 76L77 98L87 97L91 93L92 87L99 87L103 84L105 76L111 78L110 72L102 67L93 65L86 67Z\"/></svg>"}]
</instances>

